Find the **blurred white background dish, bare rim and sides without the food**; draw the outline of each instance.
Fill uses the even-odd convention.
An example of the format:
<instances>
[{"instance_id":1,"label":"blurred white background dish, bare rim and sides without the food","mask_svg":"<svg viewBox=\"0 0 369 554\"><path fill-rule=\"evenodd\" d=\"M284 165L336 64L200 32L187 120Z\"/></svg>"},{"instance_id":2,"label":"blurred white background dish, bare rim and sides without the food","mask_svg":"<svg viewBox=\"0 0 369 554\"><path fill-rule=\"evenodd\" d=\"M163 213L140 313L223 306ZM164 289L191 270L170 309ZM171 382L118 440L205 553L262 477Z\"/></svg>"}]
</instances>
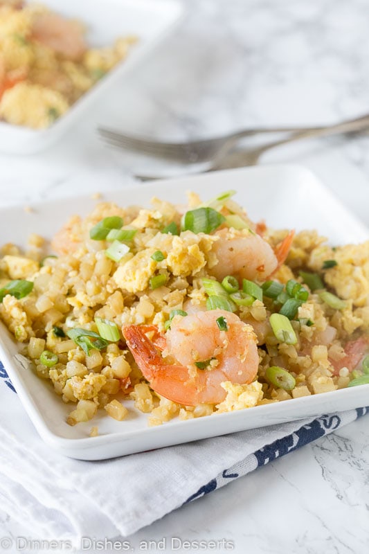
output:
<instances>
[{"instance_id":1,"label":"blurred white background dish, bare rim and sides without the food","mask_svg":"<svg viewBox=\"0 0 369 554\"><path fill-rule=\"evenodd\" d=\"M108 46L125 35L137 36L138 42L125 60L84 93L48 129L30 129L0 122L1 152L31 154L54 143L78 123L93 102L104 97L109 87L123 83L129 71L152 51L183 15L183 6L178 0L43 0L42 4L66 18L81 21L87 28L89 46Z\"/></svg>"}]
</instances>

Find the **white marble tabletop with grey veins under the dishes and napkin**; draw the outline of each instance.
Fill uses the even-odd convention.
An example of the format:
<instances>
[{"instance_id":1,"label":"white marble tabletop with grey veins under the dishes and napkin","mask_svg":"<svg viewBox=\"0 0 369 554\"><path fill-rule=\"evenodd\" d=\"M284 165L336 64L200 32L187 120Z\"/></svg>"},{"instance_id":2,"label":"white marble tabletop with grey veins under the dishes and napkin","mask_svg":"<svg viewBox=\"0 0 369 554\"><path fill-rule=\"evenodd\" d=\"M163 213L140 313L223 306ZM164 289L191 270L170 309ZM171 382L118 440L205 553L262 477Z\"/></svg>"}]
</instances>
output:
<instances>
[{"instance_id":1,"label":"white marble tabletop with grey veins under the dishes and napkin","mask_svg":"<svg viewBox=\"0 0 369 554\"><path fill-rule=\"evenodd\" d=\"M333 123L369 111L366 0L186 6L181 28L60 143L33 157L0 154L1 204L120 188L132 182L132 170L153 167L103 147L97 124L183 139L255 124ZM369 225L367 136L285 146L262 159L270 161L312 168ZM175 536L225 538L237 553L364 553L368 444L366 416L173 512L130 537L132 546ZM0 520L0 535L29 536L6 515Z\"/></svg>"}]
</instances>

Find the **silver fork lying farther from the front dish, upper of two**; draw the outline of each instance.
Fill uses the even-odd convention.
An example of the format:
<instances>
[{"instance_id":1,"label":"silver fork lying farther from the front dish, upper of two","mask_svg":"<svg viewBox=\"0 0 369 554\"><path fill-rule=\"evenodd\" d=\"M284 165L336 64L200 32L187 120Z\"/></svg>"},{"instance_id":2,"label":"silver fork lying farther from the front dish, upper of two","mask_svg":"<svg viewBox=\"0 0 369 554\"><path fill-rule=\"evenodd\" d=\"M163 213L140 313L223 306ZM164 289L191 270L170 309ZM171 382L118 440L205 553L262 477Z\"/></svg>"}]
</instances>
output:
<instances>
[{"instance_id":1,"label":"silver fork lying farther from the front dish, upper of two","mask_svg":"<svg viewBox=\"0 0 369 554\"><path fill-rule=\"evenodd\" d=\"M255 134L271 134L277 132L289 132L296 134L318 133L333 134L340 132L351 132L361 128L361 125L367 126L369 115L361 116L352 120L347 120L339 124L328 125L325 127L276 127L274 129L244 129L235 133L219 136L215 139L202 139L190 141L187 143L169 143L154 141L138 136L131 136L125 133L116 132L111 129L98 128L98 133L102 139L109 145L123 150L134 150L141 154L148 154L152 157L165 158L180 163L214 163L215 165L230 152L233 146L246 136ZM303 138L303 137L300 137Z\"/></svg>"}]
</instances>

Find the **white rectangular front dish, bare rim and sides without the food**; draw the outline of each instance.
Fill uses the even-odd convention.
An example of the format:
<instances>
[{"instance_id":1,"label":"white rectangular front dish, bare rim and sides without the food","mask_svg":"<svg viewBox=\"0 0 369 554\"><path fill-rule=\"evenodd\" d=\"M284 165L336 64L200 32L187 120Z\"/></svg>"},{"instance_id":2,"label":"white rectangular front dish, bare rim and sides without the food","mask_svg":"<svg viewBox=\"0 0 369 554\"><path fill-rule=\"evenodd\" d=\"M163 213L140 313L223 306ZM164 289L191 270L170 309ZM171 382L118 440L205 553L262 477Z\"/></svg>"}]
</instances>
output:
<instances>
[{"instance_id":1,"label":"white rectangular front dish, bare rim and sides without the food","mask_svg":"<svg viewBox=\"0 0 369 554\"><path fill-rule=\"evenodd\" d=\"M255 221L264 219L279 228L318 229L333 244L369 238L368 229L312 173L298 166L246 168L157 181L106 193L103 199L123 206L148 206L155 195L183 203L186 190L195 190L203 199L209 199L230 188L237 190L235 199ZM89 197L76 197L37 204L30 213L24 213L22 206L3 208L1 242L24 245L31 232L51 238L70 215L86 215L95 204ZM194 420L172 420L160 427L147 427L147 414L137 410L130 411L123 422L98 415L93 422L70 427L66 415L71 404L64 404L51 385L39 379L26 364L19 363L16 355L17 345L1 324L0 359L37 431L58 452L84 460L112 458L369 404L369 385L363 385ZM99 436L89 437L92 425L98 426Z\"/></svg>"}]
</instances>

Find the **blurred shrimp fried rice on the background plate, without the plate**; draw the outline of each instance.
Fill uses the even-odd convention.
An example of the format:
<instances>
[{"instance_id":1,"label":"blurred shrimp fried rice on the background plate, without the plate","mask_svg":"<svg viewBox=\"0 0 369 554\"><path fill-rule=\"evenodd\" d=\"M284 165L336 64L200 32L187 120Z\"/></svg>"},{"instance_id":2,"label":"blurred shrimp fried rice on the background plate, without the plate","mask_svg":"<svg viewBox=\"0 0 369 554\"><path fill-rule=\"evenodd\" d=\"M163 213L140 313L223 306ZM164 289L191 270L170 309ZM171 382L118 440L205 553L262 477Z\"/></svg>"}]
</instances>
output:
<instances>
[{"instance_id":1,"label":"blurred shrimp fried rice on the background plate, without the plate","mask_svg":"<svg viewBox=\"0 0 369 554\"><path fill-rule=\"evenodd\" d=\"M0 120L42 129L123 60L136 37L90 48L82 21L0 0Z\"/></svg>"}]
</instances>

